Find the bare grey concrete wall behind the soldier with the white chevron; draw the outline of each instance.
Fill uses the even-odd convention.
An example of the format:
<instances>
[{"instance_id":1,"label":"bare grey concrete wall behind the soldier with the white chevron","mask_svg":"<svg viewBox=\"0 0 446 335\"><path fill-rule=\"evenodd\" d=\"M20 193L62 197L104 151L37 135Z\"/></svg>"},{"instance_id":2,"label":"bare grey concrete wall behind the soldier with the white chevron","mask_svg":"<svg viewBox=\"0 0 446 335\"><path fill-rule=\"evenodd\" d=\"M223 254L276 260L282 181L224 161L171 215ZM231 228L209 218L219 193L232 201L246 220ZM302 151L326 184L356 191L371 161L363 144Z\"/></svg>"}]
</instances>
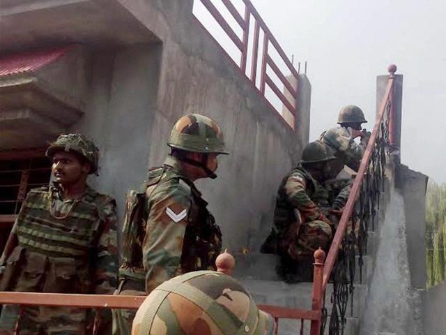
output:
<instances>
[{"instance_id":1,"label":"bare grey concrete wall behind the soldier with the white chevron","mask_svg":"<svg viewBox=\"0 0 446 335\"><path fill-rule=\"evenodd\" d=\"M240 74L192 17L192 0L121 3L161 43L93 52L86 117L72 128L101 149L100 177L91 182L116 197L121 216L126 191L164 161L176 119L206 114L222 127L231 155L221 158L215 181L197 186L222 227L224 247L258 249L279 182L308 136L287 126Z\"/></svg>"}]
</instances>

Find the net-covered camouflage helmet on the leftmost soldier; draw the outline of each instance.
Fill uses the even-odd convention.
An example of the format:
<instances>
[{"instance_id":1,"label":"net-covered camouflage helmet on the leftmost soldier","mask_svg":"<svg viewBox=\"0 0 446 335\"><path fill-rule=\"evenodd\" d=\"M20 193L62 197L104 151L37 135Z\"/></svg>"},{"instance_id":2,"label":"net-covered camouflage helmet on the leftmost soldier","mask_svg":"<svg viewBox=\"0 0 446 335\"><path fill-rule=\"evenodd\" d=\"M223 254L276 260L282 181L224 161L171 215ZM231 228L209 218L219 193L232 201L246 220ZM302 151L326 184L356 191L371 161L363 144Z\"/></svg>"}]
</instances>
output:
<instances>
[{"instance_id":1,"label":"net-covered camouflage helmet on the leftmost soldier","mask_svg":"<svg viewBox=\"0 0 446 335\"><path fill-rule=\"evenodd\" d=\"M82 134L63 134L56 142L49 144L47 157L52 158L56 151L74 151L86 158L91 164L90 174L98 171L99 149Z\"/></svg>"}]
</instances>

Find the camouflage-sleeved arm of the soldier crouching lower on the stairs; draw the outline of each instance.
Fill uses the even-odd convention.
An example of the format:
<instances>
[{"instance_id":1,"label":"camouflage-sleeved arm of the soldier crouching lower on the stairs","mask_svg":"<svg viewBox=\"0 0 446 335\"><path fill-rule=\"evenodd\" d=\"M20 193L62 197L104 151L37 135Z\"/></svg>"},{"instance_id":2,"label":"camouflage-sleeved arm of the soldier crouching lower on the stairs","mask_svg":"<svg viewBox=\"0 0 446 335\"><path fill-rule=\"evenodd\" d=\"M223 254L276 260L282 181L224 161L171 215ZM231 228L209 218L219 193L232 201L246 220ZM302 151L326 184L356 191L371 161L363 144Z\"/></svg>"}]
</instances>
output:
<instances>
[{"instance_id":1,"label":"camouflage-sleeved arm of the soldier crouching lower on the stairs","mask_svg":"<svg viewBox=\"0 0 446 335\"><path fill-rule=\"evenodd\" d=\"M298 209L302 222L323 220L328 221L319 207L309 198L305 191L305 179L299 174L292 174L285 184L286 197L291 205ZM330 222L330 221L328 221Z\"/></svg>"}]
</instances>

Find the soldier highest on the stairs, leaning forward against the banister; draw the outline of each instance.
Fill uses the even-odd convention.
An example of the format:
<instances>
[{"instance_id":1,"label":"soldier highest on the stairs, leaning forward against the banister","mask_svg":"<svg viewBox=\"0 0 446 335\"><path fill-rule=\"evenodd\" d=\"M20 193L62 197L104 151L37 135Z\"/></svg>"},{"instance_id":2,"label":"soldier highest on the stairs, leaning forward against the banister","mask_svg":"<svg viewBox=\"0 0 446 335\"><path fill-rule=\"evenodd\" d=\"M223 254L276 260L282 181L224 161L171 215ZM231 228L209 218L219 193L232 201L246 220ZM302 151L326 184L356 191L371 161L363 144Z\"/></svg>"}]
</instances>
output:
<instances>
[{"instance_id":1,"label":"soldier highest on the stairs, leaning forward against the banister","mask_svg":"<svg viewBox=\"0 0 446 335\"><path fill-rule=\"evenodd\" d=\"M366 122L360 107L348 105L339 112L339 126L322 133L320 140L327 144L337 157L337 161L331 163L332 169L339 169L340 172L344 165L347 165L355 171L358 170L370 137L369 132L361 131L361 125ZM355 142L356 137L361 137L360 144Z\"/></svg>"}]
</instances>

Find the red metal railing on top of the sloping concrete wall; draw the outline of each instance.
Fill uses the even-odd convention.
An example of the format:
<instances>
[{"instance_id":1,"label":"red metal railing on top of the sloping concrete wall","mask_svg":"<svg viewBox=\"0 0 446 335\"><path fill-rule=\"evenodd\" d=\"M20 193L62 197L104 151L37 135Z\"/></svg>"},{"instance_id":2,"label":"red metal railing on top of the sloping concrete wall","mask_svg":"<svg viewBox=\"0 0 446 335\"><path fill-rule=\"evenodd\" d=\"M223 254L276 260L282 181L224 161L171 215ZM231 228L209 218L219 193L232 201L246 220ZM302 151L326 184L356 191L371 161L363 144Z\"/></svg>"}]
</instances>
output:
<instances>
[{"instance_id":1,"label":"red metal railing on top of the sloping concrete wall","mask_svg":"<svg viewBox=\"0 0 446 335\"><path fill-rule=\"evenodd\" d=\"M254 87L256 89L259 89L260 93L265 97L265 91L266 86L270 87L272 92L279 98L279 101L283 103L283 105L286 107L286 110L288 110L291 113L292 120L287 121L289 125L294 128L295 126L295 116L298 112L298 106L297 106L297 85L298 85L298 71L295 70L293 64L289 60L288 57L286 57L286 54L284 50L282 50L282 47L280 47L279 42L277 42L276 38L272 35L270 29L268 29L266 23L262 20L261 16L257 12L256 8L252 5L251 1L249 0L243 0L243 3L245 4L245 14L244 17L240 15L237 8L233 5L231 0L221 0L224 6L226 6L229 13L231 13L232 17L240 28L243 31L242 38L239 38L236 32L232 29L231 25L228 23L228 21L224 18L224 16L220 13L220 11L214 6L213 2L210 0L200 0L201 3L203 3L203 6L208 10L210 15L213 16L215 21L220 24L220 27L223 29L223 31L226 33L226 35L231 39L234 45L238 48L240 51L240 62L237 64L242 71L243 75L246 75L249 80L254 84ZM250 34L250 20L251 17L254 20L254 36L253 36L253 43L252 43L252 55L251 55L251 69L249 73L247 73L247 59L248 59L248 48L249 48L249 34ZM257 63L259 60L259 38L260 38L260 31L263 32L263 46L261 50L261 70L260 70L260 82L257 84ZM286 75L280 70L279 66L277 66L277 63L272 59L270 56L270 53L268 52L270 45L275 48L277 51L277 54L279 54L279 58L284 62L286 68L289 69L291 75L294 78L295 85L286 79ZM268 75L267 70L268 67L272 70L273 73L279 78L279 80L282 82L284 87L286 88L286 91L289 92L289 96L291 96L291 101L286 98L286 94L277 87L277 84L272 80L272 77ZM268 98L266 98L268 101ZM270 101L268 101L270 106L274 108L279 114L284 117L282 114L283 111L277 110L276 107L274 107ZM284 119L286 119L284 117Z\"/></svg>"}]
</instances>

